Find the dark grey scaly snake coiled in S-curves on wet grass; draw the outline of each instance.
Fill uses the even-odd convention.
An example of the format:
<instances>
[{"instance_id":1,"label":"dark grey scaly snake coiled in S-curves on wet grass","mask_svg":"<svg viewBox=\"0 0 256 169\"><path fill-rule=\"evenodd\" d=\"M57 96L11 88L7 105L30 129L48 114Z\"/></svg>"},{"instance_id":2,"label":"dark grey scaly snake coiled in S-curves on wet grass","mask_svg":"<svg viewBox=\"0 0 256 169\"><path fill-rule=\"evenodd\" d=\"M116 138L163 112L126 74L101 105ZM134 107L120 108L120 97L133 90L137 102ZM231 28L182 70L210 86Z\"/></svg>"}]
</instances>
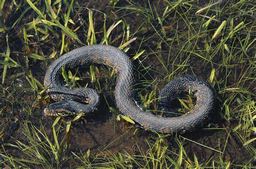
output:
<instances>
[{"instance_id":1,"label":"dark grey scaly snake coiled in S-curves on wet grass","mask_svg":"<svg viewBox=\"0 0 256 169\"><path fill-rule=\"evenodd\" d=\"M44 78L47 93L57 103L44 109L49 116L84 115L98 110L100 97L90 88L70 89L62 85L62 67L77 68L82 65L102 64L110 66L117 73L117 84L114 90L116 105L124 116L131 118L145 130L161 133L183 133L202 126L211 116L214 106L213 91L200 79L177 78L167 83L160 93L161 106L171 104L180 94L191 90L197 97L194 108L178 117L159 117L140 109L133 101L132 86L135 83L133 65L129 57L116 47L92 45L77 48L58 58L49 67Z\"/></svg>"}]
</instances>

